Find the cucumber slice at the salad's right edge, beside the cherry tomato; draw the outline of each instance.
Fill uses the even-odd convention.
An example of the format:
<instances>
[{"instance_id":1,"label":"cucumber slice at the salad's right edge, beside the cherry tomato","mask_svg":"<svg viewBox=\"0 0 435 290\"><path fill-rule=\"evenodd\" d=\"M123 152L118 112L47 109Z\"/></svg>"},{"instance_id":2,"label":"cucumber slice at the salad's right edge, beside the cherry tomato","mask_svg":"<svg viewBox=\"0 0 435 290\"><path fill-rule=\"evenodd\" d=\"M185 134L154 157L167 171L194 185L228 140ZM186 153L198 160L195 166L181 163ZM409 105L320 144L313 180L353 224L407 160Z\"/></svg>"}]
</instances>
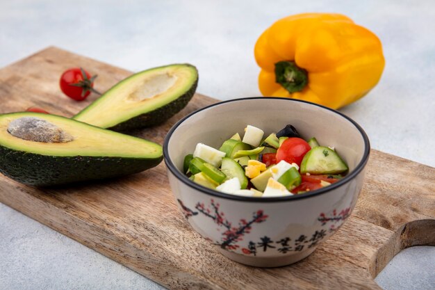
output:
<instances>
[{"instance_id":1,"label":"cucumber slice at the salad's right edge, beside the cherry tomato","mask_svg":"<svg viewBox=\"0 0 435 290\"><path fill-rule=\"evenodd\" d=\"M312 174L337 174L349 168L345 161L329 147L318 146L307 152L302 159L300 172Z\"/></svg>"}]
</instances>

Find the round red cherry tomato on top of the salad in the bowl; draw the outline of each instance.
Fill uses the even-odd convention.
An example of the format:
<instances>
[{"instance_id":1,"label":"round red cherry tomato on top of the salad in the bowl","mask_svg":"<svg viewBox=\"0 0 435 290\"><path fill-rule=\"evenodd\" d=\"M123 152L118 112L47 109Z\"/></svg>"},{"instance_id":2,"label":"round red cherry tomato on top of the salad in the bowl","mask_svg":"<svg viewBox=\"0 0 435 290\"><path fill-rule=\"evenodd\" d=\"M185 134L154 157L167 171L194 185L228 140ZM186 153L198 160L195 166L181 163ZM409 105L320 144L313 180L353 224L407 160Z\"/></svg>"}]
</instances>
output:
<instances>
[{"instance_id":1,"label":"round red cherry tomato on top of the salad in the bowl","mask_svg":"<svg viewBox=\"0 0 435 290\"><path fill-rule=\"evenodd\" d=\"M306 152L311 150L311 146L302 138L288 138L279 146L277 151L277 163L284 160L288 163L301 165Z\"/></svg>"}]
</instances>

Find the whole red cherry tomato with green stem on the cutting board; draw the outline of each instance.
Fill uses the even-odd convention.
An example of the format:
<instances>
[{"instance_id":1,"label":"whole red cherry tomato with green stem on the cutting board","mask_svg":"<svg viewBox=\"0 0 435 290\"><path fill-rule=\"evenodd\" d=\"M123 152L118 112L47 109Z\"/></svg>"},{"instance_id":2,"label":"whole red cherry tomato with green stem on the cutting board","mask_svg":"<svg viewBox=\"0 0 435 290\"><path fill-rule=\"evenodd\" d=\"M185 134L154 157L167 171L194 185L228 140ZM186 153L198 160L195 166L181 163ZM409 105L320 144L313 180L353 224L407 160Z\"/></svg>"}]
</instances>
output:
<instances>
[{"instance_id":1,"label":"whole red cherry tomato with green stem on the cutting board","mask_svg":"<svg viewBox=\"0 0 435 290\"><path fill-rule=\"evenodd\" d=\"M86 99L90 95L90 92L101 95L94 89L96 78L97 75L90 76L89 72L86 72L81 67L74 67L66 70L60 76L60 90L71 99L83 101L83 99Z\"/></svg>"}]
</instances>

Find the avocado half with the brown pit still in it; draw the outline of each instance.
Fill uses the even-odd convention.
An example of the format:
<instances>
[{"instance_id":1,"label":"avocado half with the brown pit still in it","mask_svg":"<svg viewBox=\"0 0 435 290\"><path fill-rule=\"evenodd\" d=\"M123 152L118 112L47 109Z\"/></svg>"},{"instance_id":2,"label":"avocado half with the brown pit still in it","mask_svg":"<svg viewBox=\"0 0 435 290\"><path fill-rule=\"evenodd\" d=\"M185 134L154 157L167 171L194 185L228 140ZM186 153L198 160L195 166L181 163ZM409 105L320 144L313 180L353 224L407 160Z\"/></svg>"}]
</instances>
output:
<instances>
[{"instance_id":1,"label":"avocado half with the brown pit still in it","mask_svg":"<svg viewBox=\"0 0 435 290\"><path fill-rule=\"evenodd\" d=\"M0 115L0 172L22 184L119 177L162 159L161 145L76 120L30 112Z\"/></svg>"}]
</instances>

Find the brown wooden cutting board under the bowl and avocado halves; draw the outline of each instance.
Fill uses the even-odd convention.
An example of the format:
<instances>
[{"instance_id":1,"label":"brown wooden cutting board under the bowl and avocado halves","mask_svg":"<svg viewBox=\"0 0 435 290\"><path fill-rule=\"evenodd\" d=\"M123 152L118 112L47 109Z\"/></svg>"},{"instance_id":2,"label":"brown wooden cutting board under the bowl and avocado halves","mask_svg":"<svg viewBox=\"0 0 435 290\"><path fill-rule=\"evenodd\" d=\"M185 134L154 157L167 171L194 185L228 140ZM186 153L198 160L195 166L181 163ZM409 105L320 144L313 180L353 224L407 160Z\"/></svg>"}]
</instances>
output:
<instances>
[{"instance_id":1,"label":"brown wooden cutting board under the bowl and avocado halves","mask_svg":"<svg viewBox=\"0 0 435 290\"><path fill-rule=\"evenodd\" d=\"M40 106L74 115L97 98L74 102L60 92L60 74L77 66L99 75L99 91L131 74L49 47L0 70L0 113ZM174 122L213 102L197 94L169 122L133 134L162 144ZM0 202L170 289L379 289L373 278L397 252L435 245L435 168L377 150L347 223L308 258L282 268L220 255L179 213L163 163L122 179L46 189L0 175Z\"/></svg>"}]
</instances>

